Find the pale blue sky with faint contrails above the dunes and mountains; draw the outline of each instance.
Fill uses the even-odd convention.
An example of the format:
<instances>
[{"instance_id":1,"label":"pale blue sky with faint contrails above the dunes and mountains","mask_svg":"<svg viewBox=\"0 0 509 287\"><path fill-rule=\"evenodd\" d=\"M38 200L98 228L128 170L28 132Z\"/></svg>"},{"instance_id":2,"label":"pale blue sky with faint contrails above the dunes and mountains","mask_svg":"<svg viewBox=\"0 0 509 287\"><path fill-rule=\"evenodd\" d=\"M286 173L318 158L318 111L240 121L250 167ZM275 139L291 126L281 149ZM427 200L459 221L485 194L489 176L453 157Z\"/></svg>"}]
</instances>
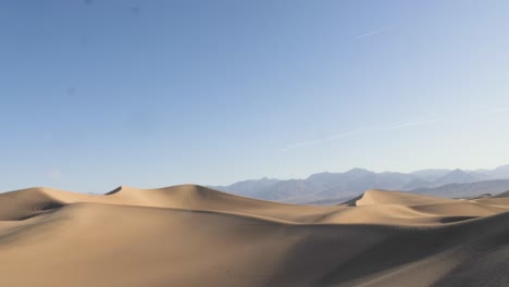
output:
<instances>
[{"instance_id":1,"label":"pale blue sky with faint contrails above the dunes and mountains","mask_svg":"<svg viewBox=\"0 0 509 287\"><path fill-rule=\"evenodd\" d=\"M5 0L0 190L509 163L509 1Z\"/></svg>"}]
</instances>

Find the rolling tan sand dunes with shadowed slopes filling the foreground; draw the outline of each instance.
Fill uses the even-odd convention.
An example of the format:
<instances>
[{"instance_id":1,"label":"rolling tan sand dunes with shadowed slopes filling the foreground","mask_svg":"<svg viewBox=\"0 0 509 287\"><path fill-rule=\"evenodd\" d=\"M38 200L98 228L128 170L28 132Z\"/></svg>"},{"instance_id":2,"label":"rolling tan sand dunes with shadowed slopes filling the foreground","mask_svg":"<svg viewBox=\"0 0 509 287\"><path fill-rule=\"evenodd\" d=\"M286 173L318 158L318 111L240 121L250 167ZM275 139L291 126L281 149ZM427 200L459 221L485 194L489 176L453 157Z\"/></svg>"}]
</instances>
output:
<instances>
[{"instance_id":1,"label":"rolling tan sand dunes with shadowed slopes filling the foreground","mask_svg":"<svg viewBox=\"0 0 509 287\"><path fill-rule=\"evenodd\" d=\"M0 194L0 286L509 286L509 198L15 190Z\"/></svg>"}]
</instances>

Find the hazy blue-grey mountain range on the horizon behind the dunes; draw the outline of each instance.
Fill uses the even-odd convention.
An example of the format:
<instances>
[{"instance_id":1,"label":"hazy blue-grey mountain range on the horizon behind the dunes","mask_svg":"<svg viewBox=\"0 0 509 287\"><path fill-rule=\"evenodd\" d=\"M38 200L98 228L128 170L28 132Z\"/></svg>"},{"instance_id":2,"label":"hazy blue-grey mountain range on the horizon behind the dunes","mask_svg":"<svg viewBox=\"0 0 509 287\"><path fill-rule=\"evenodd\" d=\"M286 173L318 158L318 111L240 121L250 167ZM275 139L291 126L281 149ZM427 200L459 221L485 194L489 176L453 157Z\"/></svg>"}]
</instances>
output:
<instances>
[{"instance_id":1,"label":"hazy blue-grey mountain range on the horizon behind the dunes","mask_svg":"<svg viewBox=\"0 0 509 287\"><path fill-rule=\"evenodd\" d=\"M411 173L375 173L356 167L344 173L316 173L306 179L263 177L211 187L239 196L287 203L340 202L369 189L461 198L509 190L509 164L494 170L434 169Z\"/></svg>"}]
</instances>

